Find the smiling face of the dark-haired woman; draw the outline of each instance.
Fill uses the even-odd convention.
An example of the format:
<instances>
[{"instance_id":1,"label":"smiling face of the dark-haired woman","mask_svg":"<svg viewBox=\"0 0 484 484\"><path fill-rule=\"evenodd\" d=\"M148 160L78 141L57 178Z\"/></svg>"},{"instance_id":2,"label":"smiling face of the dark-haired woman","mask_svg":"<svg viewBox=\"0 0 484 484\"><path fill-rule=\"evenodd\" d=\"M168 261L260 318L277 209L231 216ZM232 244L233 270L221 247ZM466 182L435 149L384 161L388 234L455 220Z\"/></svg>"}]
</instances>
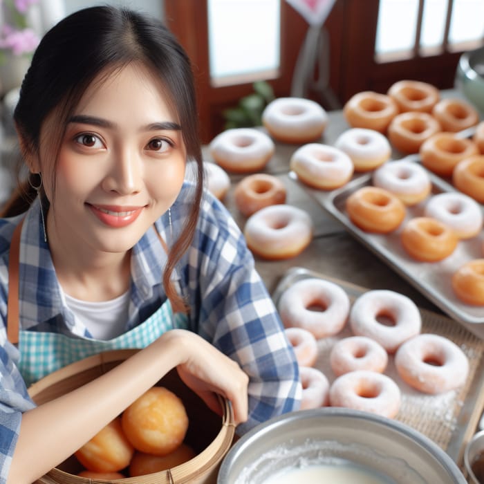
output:
<instances>
[{"instance_id":1,"label":"smiling face of the dark-haired woman","mask_svg":"<svg viewBox=\"0 0 484 484\"><path fill-rule=\"evenodd\" d=\"M54 196L53 167L42 166L48 145L41 141L39 157L51 203L48 239L73 250L129 250L175 201L185 176L176 116L140 65L95 80L84 93L66 127Z\"/></svg>"}]
</instances>

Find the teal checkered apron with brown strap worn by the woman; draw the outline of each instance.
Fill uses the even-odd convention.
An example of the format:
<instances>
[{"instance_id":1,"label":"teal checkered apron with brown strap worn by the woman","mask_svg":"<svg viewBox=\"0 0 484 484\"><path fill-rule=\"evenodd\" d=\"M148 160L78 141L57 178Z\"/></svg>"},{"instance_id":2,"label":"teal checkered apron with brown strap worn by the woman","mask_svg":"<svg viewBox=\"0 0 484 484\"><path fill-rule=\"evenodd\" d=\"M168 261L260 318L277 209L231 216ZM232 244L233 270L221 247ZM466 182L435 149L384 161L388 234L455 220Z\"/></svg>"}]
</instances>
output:
<instances>
[{"instance_id":1,"label":"teal checkered apron with brown strap worn by the woman","mask_svg":"<svg viewBox=\"0 0 484 484\"><path fill-rule=\"evenodd\" d=\"M187 328L188 317L184 313L173 313L166 301L145 322L127 333L109 340L68 336L59 333L19 330L18 322L18 267L21 224L12 237L9 261L8 290L8 339L17 343L20 360L19 371L26 385L37 382L49 373L83 358L103 351L145 348L166 331ZM162 245L164 245L162 243ZM17 319L15 321L15 318ZM17 333L17 334L15 334Z\"/></svg>"}]
</instances>

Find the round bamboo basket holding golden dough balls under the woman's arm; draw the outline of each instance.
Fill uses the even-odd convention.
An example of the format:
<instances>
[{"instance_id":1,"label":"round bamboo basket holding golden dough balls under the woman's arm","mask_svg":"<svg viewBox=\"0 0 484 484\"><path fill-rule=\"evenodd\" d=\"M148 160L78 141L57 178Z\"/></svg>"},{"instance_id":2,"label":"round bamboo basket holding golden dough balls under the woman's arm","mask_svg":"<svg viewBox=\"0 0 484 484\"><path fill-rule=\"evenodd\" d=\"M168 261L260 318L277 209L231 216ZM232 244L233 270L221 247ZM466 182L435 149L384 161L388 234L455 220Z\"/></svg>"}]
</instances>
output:
<instances>
[{"instance_id":1,"label":"round bamboo basket holding golden dough balls under the woman's arm","mask_svg":"<svg viewBox=\"0 0 484 484\"><path fill-rule=\"evenodd\" d=\"M138 350L106 351L80 360L32 384L28 393L36 404L48 402L94 380L136 351ZM215 484L218 468L234 438L232 407L227 400L220 398L223 416L216 415L180 380L175 369L167 373L158 384L176 393L185 405L189 418L185 443L195 450L194 458L165 471L106 481L75 475L83 468L71 456L35 484Z\"/></svg>"}]
</instances>

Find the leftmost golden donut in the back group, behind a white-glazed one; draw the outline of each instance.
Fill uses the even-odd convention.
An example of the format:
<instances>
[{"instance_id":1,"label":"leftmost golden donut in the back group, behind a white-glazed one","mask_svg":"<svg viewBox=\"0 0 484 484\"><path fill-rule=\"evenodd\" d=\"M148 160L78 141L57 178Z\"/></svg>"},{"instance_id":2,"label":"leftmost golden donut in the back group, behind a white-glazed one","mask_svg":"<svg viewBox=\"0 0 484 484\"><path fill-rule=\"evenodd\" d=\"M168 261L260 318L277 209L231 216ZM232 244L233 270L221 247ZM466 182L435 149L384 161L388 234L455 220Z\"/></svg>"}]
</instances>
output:
<instances>
[{"instance_id":1,"label":"leftmost golden donut in the back group, behind a white-glazed one","mask_svg":"<svg viewBox=\"0 0 484 484\"><path fill-rule=\"evenodd\" d=\"M367 128L385 133L395 115L398 106L386 94L373 91L356 93L344 104L344 118L352 128Z\"/></svg>"}]
</instances>

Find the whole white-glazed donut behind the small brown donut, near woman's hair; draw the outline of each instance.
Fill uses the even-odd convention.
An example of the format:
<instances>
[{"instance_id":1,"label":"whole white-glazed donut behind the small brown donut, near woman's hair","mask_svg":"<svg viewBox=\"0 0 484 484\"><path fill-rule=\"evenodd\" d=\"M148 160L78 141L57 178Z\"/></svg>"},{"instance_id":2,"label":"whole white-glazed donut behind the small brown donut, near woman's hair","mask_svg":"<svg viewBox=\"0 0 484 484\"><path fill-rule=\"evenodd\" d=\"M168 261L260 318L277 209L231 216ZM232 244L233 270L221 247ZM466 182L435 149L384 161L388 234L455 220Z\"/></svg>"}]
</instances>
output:
<instances>
[{"instance_id":1,"label":"whole white-glazed donut behind the small brown donut, near woman's hair","mask_svg":"<svg viewBox=\"0 0 484 484\"><path fill-rule=\"evenodd\" d=\"M263 169L274 154L274 142L254 128L227 129L210 142L210 154L223 169L250 173Z\"/></svg>"}]
</instances>

